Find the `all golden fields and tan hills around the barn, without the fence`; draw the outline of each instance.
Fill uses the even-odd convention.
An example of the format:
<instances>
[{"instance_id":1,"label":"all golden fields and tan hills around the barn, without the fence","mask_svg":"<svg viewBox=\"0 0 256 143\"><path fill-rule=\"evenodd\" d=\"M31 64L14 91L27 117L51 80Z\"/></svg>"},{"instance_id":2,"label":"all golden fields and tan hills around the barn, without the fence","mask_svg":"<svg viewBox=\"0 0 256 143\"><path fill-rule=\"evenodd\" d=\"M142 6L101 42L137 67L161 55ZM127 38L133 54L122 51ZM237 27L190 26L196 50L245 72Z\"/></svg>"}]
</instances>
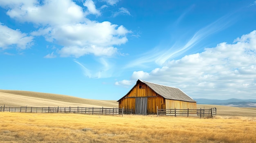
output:
<instances>
[{"instance_id":1,"label":"all golden fields and tan hills around the barn, without the fence","mask_svg":"<svg viewBox=\"0 0 256 143\"><path fill-rule=\"evenodd\" d=\"M0 106L118 107L116 101L0 90ZM255 143L256 108L217 108L213 118L0 112L0 143Z\"/></svg>"}]
</instances>

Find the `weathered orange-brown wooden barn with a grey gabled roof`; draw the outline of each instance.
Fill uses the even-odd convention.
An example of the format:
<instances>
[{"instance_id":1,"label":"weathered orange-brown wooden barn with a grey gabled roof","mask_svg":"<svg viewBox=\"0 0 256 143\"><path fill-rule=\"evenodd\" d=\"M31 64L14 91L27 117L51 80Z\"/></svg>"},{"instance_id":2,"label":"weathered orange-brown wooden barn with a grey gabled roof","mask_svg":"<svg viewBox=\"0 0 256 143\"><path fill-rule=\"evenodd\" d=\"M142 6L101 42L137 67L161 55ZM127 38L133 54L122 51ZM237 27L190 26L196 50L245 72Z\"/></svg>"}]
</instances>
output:
<instances>
[{"instance_id":1,"label":"weathered orange-brown wooden barn with a grey gabled roof","mask_svg":"<svg viewBox=\"0 0 256 143\"><path fill-rule=\"evenodd\" d=\"M196 109L196 101L179 88L138 79L121 99L119 108L133 109L135 114L156 114L158 109Z\"/></svg>"}]
</instances>

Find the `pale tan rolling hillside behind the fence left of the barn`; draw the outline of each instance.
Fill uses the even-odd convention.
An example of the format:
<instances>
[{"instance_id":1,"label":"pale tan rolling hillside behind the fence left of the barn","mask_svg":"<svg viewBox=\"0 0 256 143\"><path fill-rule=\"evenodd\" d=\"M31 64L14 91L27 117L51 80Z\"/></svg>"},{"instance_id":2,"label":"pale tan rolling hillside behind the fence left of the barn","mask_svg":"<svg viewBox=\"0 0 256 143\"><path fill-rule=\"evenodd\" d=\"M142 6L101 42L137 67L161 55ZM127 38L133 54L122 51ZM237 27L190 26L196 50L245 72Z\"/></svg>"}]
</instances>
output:
<instances>
[{"instance_id":1,"label":"pale tan rolling hillside behind the fence left of the barn","mask_svg":"<svg viewBox=\"0 0 256 143\"><path fill-rule=\"evenodd\" d=\"M116 108L116 101L104 101L83 99L67 95L57 95L42 92L20 91L20 90L0 90L0 105L7 106L31 106L31 107L104 107Z\"/></svg>"}]
</instances>

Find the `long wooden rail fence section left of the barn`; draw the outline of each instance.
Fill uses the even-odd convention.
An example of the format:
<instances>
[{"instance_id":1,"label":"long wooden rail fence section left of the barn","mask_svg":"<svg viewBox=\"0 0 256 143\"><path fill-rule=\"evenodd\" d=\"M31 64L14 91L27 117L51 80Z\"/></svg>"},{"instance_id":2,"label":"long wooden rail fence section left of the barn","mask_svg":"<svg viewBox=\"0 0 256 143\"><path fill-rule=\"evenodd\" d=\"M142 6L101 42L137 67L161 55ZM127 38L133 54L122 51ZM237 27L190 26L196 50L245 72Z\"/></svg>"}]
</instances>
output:
<instances>
[{"instance_id":1,"label":"long wooden rail fence section left of the barn","mask_svg":"<svg viewBox=\"0 0 256 143\"><path fill-rule=\"evenodd\" d=\"M6 107L1 106L0 112L23 113L80 113L80 114L132 114L132 109L124 108L88 108L88 107Z\"/></svg>"}]
</instances>

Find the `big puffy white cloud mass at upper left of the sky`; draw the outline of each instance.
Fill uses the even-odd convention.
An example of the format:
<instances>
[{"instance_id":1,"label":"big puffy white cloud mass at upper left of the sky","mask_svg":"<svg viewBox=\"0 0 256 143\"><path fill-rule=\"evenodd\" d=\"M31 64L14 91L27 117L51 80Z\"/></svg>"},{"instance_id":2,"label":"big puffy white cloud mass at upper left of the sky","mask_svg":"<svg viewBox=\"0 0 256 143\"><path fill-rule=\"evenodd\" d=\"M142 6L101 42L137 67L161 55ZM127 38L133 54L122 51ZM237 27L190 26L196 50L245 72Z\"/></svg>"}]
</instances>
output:
<instances>
[{"instance_id":1,"label":"big puffy white cloud mass at upper left of the sky","mask_svg":"<svg viewBox=\"0 0 256 143\"><path fill-rule=\"evenodd\" d=\"M80 57L86 54L112 56L117 53L115 46L128 41L130 33L124 26L108 21L97 22L86 18L88 13L100 15L92 0L86 0L88 11L72 0L0 0L0 6L8 9L7 15L20 22L32 22L37 29L33 36L44 36L48 42L62 46L56 53L63 57ZM20 43L28 43L29 38Z\"/></svg>"}]
</instances>

